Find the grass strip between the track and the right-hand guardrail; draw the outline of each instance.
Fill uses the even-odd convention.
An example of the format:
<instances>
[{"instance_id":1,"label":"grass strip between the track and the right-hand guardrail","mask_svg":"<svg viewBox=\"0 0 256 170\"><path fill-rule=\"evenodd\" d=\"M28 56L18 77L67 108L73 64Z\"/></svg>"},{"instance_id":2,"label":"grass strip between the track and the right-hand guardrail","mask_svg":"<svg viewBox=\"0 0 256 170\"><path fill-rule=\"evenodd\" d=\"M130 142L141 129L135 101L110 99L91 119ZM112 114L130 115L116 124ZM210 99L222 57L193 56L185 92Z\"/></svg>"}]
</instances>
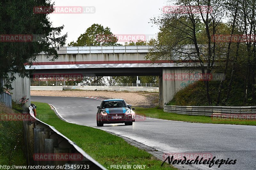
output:
<instances>
[{"instance_id":1,"label":"grass strip between the track and the right-hand guardrail","mask_svg":"<svg viewBox=\"0 0 256 170\"><path fill-rule=\"evenodd\" d=\"M137 115L144 115L151 118L195 122L195 123L214 123L214 124L236 124L236 125L256 125L255 120L239 120L239 119L214 119L210 116L181 115L176 113L166 113L160 108L142 108L135 107Z\"/></svg>"}]
</instances>

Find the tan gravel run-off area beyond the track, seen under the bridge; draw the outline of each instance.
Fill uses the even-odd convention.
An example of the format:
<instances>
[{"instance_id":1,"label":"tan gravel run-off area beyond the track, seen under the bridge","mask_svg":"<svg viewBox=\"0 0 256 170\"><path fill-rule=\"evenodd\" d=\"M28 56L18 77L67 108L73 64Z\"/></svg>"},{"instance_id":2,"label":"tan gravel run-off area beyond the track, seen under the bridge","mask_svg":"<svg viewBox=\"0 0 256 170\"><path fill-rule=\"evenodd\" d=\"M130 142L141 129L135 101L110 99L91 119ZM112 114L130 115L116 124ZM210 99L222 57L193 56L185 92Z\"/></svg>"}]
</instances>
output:
<instances>
[{"instance_id":1,"label":"tan gravel run-off area beyond the track, seen under the bridge","mask_svg":"<svg viewBox=\"0 0 256 170\"><path fill-rule=\"evenodd\" d=\"M103 99L124 99L127 104L137 107L158 106L157 92L120 92L120 91L87 91L87 90L66 90L66 91L38 91L31 90L31 96L60 96L60 97L100 97Z\"/></svg>"}]
</instances>

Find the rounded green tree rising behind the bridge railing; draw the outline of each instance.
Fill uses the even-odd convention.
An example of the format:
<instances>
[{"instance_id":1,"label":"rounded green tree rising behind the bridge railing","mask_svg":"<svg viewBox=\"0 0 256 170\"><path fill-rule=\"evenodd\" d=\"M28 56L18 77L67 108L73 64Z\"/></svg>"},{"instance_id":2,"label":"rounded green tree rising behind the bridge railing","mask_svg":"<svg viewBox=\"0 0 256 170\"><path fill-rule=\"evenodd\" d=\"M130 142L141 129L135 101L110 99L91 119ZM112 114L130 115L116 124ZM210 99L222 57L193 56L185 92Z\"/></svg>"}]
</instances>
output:
<instances>
[{"instance_id":1,"label":"rounded green tree rising behind the bridge railing","mask_svg":"<svg viewBox=\"0 0 256 170\"><path fill-rule=\"evenodd\" d=\"M117 46L117 37L110 31L110 28L92 24L81 34L76 42L72 41L68 46Z\"/></svg>"}]
</instances>

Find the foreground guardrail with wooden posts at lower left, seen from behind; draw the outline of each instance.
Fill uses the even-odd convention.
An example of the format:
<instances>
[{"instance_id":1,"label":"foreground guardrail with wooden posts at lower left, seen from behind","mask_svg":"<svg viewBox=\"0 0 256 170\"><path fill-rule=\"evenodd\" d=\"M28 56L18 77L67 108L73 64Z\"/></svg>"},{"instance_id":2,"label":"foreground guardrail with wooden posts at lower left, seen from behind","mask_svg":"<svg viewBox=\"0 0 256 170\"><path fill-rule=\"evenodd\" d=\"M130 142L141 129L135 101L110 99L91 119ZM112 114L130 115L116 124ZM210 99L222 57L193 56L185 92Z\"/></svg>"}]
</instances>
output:
<instances>
[{"instance_id":1,"label":"foreground guardrail with wooden posts at lower left, seen from behind","mask_svg":"<svg viewBox=\"0 0 256 170\"><path fill-rule=\"evenodd\" d=\"M54 127L37 119L31 106L23 111L23 117L28 166L55 166L51 169L106 169Z\"/></svg>"}]
</instances>

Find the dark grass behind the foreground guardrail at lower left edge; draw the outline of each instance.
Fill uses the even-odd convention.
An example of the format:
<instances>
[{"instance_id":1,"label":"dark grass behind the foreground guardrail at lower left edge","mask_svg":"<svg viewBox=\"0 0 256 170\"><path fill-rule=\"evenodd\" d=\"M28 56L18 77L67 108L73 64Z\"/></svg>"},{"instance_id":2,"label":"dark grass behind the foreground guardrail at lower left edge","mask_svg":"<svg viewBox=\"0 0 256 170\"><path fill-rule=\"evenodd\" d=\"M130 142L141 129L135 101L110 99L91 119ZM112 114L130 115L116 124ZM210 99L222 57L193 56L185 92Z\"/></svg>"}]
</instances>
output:
<instances>
[{"instance_id":1,"label":"dark grass behind the foreground guardrail at lower left edge","mask_svg":"<svg viewBox=\"0 0 256 170\"><path fill-rule=\"evenodd\" d=\"M14 104L12 108L20 109L20 106ZM26 165L22 121L4 121L4 115L13 113L18 112L0 104L0 165L22 166Z\"/></svg>"}]
</instances>

